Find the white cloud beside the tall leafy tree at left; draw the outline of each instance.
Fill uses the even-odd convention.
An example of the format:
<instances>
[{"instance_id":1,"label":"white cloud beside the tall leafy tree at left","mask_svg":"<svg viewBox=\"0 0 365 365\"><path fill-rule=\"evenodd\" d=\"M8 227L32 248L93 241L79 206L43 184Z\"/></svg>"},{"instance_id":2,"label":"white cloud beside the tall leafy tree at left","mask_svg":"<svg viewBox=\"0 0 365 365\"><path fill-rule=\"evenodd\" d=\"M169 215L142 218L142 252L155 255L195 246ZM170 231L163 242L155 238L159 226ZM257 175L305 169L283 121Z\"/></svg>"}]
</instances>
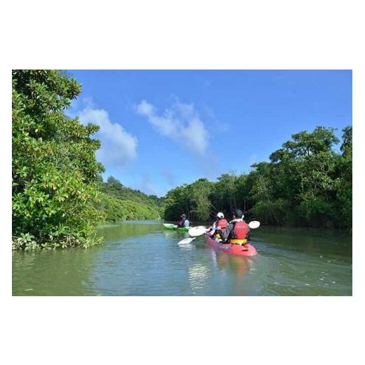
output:
<instances>
[{"instance_id":1,"label":"white cloud beside the tall leafy tree at left","mask_svg":"<svg viewBox=\"0 0 365 365\"><path fill-rule=\"evenodd\" d=\"M102 164L123 166L137 157L137 138L126 132L120 124L113 123L106 110L96 109L90 100L86 100L86 107L77 116L82 124L100 126L96 138L100 139L101 147L96 157Z\"/></svg>"}]
</instances>

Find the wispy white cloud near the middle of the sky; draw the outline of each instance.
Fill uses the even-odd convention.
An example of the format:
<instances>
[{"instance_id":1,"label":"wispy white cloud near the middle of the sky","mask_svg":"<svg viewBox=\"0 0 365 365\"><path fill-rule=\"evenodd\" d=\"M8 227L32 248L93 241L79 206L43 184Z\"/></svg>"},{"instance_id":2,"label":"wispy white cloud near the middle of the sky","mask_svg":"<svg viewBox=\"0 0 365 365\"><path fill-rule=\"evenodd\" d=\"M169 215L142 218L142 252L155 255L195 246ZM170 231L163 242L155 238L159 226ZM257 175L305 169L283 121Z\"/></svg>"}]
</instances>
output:
<instances>
[{"instance_id":1,"label":"wispy white cloud near the middle of the sky","mask_svg":"<svg viewBox=\"0 0 365 365\"><path fill-rule=\"evenodd\" d=\"M178 142L194 154L204 156L208 147L208 132L193 104L175 102L171 109L166 109L159 115L152 104L142 100L136 111L147 117L161 135Z\"/></svg>"}]
</instances>

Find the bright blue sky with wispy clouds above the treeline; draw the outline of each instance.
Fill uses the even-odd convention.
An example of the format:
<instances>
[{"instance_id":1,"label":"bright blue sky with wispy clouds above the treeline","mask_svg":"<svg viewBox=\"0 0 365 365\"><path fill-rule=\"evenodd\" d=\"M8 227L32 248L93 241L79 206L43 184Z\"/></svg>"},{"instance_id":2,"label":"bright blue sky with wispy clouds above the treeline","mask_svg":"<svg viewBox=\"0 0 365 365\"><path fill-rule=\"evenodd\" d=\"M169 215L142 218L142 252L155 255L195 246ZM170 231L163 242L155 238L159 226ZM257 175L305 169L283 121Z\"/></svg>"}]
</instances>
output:
<instances>
[{"instance_id":1,"label":"bright blue sky with wispy clouds above the treeline","mask_svg":"<svg viewBox=\"0 0 365 365\"><path fill-rule=\"evenodd\" d=\"M352 124L347 70L69 70L67 111L100 125L103 177L162 196L198 178L250 171L298 131Z\"/></svg>"}]
</instances>

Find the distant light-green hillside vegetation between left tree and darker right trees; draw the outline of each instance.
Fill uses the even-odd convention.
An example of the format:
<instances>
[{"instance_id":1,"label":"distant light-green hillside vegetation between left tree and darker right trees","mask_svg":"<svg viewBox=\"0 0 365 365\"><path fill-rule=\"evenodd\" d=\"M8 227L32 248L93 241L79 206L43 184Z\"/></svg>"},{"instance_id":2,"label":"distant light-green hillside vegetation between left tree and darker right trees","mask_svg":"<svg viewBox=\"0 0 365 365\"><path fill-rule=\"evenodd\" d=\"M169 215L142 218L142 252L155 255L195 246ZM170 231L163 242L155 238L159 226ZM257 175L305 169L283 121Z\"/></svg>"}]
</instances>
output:
<instances>
[{"instance_id":1,"label":"distant light-green hillside vegetation between left tree and darker right trees","mask_svg":"<svg viewBox=\"0 0 365 365\"><path fill-rule=\"evenodd\" d=\"M132 190L110 176L100 183L102 192L98 208L106 213L106 220L156 219L164 214L164 199Z\"/></svg>"}]
</instances>

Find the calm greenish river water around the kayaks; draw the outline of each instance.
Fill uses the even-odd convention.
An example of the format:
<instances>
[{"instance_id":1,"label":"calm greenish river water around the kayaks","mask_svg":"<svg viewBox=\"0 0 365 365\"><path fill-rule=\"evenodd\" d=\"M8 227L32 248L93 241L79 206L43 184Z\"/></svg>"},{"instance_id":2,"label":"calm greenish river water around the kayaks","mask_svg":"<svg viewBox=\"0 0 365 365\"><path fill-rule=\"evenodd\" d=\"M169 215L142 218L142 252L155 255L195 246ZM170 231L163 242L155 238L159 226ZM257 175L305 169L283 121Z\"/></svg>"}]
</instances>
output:
<instances>
[{"instance_id":1,"label":"calm greenish river water around the kayaks","mask_svg":"<svg viewBox=\"0 0 365 365\"><path fill-rule=\"evenodd\" d=\"M92 248L13 252L13 296L351 296L352 237L260 227L258 255L214 251L161 220L100 227Z\"/></svg>"}]
</instances>

